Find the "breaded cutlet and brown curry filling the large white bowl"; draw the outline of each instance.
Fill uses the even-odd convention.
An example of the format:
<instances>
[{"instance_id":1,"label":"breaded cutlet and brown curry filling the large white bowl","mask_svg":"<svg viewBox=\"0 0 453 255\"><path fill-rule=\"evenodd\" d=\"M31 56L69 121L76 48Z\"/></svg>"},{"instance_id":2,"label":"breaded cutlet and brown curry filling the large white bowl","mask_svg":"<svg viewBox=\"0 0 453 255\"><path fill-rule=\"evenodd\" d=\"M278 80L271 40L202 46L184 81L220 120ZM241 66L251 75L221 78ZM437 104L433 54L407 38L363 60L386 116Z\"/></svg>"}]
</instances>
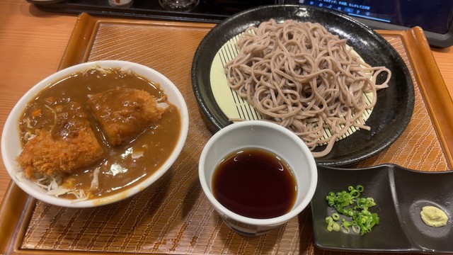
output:
<instances>
[{"instance_id":1,"label":"breaded cutlet and brown curry filling the large white bowl","mask_svg":"<svg viewBox=\"0 0 453 255\"><path fill-rule=\"evenodd\" d=\"M181 121L159 84L130 69L93 67L53 82L28 103L16 161L47 194L110 196L166 162Z\"/></svg>"}]
</instances>

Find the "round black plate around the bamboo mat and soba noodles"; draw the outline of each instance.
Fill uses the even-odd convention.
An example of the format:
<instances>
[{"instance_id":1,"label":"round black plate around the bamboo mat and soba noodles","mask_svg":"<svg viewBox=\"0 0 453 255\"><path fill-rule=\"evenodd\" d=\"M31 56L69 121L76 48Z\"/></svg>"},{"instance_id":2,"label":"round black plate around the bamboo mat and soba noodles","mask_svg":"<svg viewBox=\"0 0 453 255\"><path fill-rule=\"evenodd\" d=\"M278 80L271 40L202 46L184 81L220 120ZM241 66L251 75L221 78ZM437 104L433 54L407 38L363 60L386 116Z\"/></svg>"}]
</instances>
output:
<instances>
[{"instance_id":1,"label":"round black plate around the bamboo mat and soba noodles","mask_svg":"<svg viewBox=\"0 0 453 255\"><path fill-rule=\"evenodd\" d=\"M346 38L348 45L372 66L391 70L389 88L379 90L377 104L367 120L370 131L358 130L336 142L325 157L316 159L323 166L345 166L360 162L381 152L394 142L411 120L415 101L413 82L406 64L389 42L371 28L336 11L312 6L271 5L237 13L217 24L203 38L192 64L195 97L207 119L217 130L231 124L217 105L210 86L210 68L218 50L249 26L263 21L292 19L320 23L331 33Z\"/></svg>"}]
</instances>

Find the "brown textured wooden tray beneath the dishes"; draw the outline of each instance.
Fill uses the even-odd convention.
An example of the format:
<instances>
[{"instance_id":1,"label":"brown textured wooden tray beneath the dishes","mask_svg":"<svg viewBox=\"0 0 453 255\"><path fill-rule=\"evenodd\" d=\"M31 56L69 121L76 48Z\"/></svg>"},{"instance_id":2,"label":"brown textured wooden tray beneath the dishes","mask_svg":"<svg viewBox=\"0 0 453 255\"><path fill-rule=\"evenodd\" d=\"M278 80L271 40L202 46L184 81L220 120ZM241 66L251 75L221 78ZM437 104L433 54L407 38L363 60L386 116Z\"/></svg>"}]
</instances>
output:
<instances>
[{"instance_id":1,"label":"brown textured wooden tray beneath the dishes","mask_svg":"<svg viewBox=\"0 0 453 255\"><path fill-rule=\"evenodd\" d=\"M59 208L30 198L11 183L0 208L4 254L334 254L313 245L310 209L260 237L222 223L205 198L197 163L210 125L198 108L190 67L214 24L97 18L82 14L59 68L93 60L128 60L152 67L180 89L190 129L183 152L161 180L133 198L99 208ZM420 171L452 166L452 99L420 28L379 30L406 61L415 109L403 135L356 167L394 163Z\"/></svg>"}]
</instances>

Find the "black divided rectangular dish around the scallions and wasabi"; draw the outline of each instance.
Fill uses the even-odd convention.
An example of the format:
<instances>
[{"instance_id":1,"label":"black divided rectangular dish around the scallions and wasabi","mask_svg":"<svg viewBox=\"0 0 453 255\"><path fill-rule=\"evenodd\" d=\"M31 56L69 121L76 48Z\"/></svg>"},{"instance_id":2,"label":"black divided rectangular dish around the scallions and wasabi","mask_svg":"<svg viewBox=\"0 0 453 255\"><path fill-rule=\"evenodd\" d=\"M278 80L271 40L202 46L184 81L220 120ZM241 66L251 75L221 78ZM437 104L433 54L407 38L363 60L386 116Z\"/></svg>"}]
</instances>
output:
<instances>
[{"instance_id":1,"label":"black divided rectangular dish around the scallions and wasabi","mask_svg":"<svg viewBox=\"0 0 453 255\"><path fill-rule=\"evenodd\" d=\"M338 169L318 166L319 182L311 200L314 244L320 249L338 251L453 252L453 171L426 172L405 169L396 164L382 164L365 169ZM330 191L348 190L362 185L365 197L377 205L379 225L360 235L342 231L329 232L326 217L335 210L328 206ZM448 217L445 227L429 227L420 217L423 206L432 205Z\"/></svg>"}]
</instances>

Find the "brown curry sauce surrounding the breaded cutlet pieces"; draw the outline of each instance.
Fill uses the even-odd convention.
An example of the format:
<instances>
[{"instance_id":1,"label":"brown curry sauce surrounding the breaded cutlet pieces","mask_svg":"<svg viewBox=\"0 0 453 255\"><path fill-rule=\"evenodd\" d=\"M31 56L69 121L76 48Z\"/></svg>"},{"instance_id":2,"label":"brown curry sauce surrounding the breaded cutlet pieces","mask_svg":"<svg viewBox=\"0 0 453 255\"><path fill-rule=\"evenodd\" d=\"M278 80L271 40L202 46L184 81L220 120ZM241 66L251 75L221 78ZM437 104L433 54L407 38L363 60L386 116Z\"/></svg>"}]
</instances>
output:
<instances>
[{"instance_id":1,"label":"brown curry sauce surrounding the breaded cutlet pieces","mask_svg":"<svg viewBox=\"0 0 453 255\"><path fill-rule=\"evenodd\" d=\"M139 77L133 72L122 72L120 69L108 70L112 72L105 73L93 68L50 84L28 103L19 121L22 143L25 145L26 132L41 130L47 125L52 125L55 120L51 111L44 111L46 108L68 105L71 102L81 105L80 111L85 111L98 141L105 148L105 157L100 162L82 167L67 176L62 186L88 191L93 179L93 171L100 167L98 189L90 191L89 198L120 193L127 186L132 186L153 174L170 156L178 141L181 128L178 108L167 101L169 106L158 123L142 132L132 142L117 146L110 145L103 137L100 124L87 106L88 95L117 87L147 91L155 98L161 98L165 94L159 84ZM74 199L72 195L62 197Z\"/></svg>"}]
</instances>

